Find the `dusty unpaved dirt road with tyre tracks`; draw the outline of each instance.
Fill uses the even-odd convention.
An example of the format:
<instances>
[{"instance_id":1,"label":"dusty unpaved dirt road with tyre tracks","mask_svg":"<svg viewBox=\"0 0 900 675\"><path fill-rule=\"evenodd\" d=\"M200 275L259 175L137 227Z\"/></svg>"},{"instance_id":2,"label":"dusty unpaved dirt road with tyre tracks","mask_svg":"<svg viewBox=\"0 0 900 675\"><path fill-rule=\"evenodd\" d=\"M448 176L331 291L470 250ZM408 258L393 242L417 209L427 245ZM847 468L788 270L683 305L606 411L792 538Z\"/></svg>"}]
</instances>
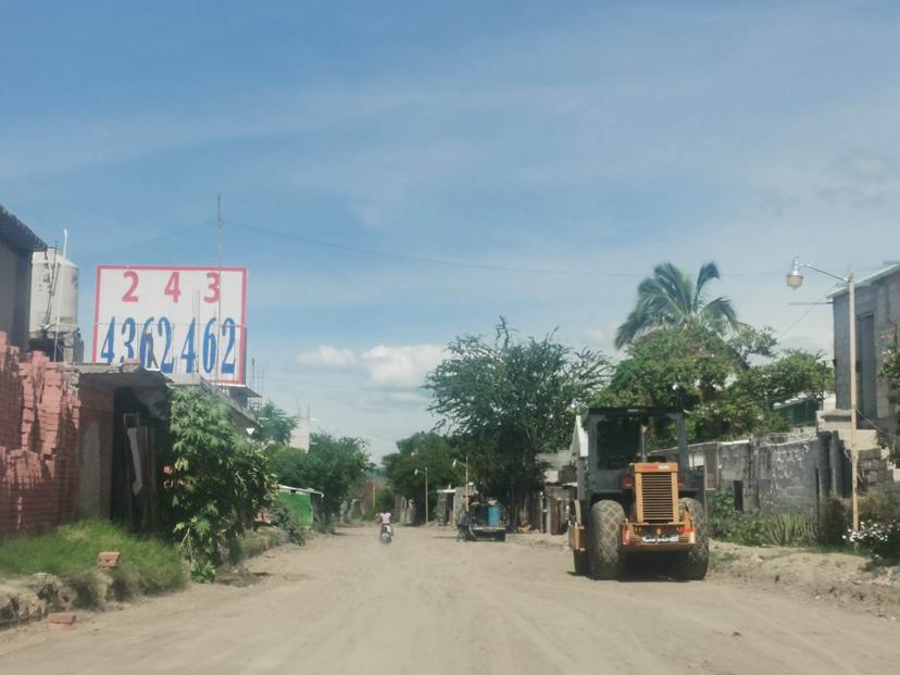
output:
<instances>
[{"instance_id":1,"label":"dusty unpaved dirt road with tyre tracks","mask_svg":"<svg viewBox=\"0 0 900 675\"><path fill-rule=\"evenodd\" d=\"M715 582L591 582L527 536L371 528L195 586L0 634L0 673L891 673L900 622Z\"/></svg>"}]
</instances>

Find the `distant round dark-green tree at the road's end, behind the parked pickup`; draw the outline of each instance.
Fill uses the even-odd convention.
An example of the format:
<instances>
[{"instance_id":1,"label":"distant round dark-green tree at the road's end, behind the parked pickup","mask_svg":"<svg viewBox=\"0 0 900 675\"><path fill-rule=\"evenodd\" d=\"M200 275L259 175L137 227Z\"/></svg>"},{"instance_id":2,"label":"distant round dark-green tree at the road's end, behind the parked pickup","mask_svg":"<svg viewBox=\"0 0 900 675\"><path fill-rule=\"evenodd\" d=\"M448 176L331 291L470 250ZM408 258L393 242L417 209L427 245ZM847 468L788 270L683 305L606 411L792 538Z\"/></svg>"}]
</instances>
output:
<instances>
[{"instance_id":1,"label":"distant round dark-green tree at the road's end, behind the parked pickup","mask_svg":"<svg viewBox=\"0 0 900 675\"><path fill-rule=\"evenodd\" d=\"M385 475L393 490L422 503L425 493L425 468L428 468L428 502L430 513L434 513L436 502L435 490L447 485L462 485L465 480L465 468L462 465L453 466L454 459L463 459L459 441L435 434L420 432L409 438L397 441L398 452L385 455L383 463ZM418 473L416 474L416 471ZM393 508L391 493L390 511ZM425 510L418 509L416 516L425 517Z\"/></svg>"}]
</instances>

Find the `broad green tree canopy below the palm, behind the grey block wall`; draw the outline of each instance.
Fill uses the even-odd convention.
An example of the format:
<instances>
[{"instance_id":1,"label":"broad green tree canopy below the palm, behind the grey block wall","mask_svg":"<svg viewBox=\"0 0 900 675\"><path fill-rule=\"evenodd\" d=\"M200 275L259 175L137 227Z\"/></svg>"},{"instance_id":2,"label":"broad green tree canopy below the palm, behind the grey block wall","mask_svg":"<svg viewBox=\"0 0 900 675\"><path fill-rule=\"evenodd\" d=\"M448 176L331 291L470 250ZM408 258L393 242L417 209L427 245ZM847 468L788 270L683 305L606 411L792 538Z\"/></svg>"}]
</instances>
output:
<instances>
[{"instance_id":1,"label":"broad green tree canopy below the palm, behind the grey block wall","mask_svg":"<svg viewBox=\"0 0 900 675\"><path fill-rule=\"evenodd\" d=\"M726 341L699 326L660 328L627 354L593 403L683 408L695 442L786 430L776 403L834 389L821 354L778 353L768 329L745 326Z\"/></svg>"}]
</instances>

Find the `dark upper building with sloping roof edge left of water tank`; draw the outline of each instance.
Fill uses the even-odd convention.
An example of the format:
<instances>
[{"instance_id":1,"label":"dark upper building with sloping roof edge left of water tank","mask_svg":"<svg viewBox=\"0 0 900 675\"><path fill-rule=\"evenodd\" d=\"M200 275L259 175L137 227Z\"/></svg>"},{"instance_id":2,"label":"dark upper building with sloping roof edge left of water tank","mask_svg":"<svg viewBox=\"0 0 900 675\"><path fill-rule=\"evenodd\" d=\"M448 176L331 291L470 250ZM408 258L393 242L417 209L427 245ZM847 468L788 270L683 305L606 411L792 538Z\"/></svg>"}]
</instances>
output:
<instances>
[{"instance_id":1,"label":"dark upper building with sloping roof edge left of water tank","mask_svg":"<svg viewBox=\"0 0 900 675\"><path fill-rule=\"evenodd\" d=\"M32 255L47 245L0 204L0 333L10 345L28 349Z\"/></svg>"}]
</instances>

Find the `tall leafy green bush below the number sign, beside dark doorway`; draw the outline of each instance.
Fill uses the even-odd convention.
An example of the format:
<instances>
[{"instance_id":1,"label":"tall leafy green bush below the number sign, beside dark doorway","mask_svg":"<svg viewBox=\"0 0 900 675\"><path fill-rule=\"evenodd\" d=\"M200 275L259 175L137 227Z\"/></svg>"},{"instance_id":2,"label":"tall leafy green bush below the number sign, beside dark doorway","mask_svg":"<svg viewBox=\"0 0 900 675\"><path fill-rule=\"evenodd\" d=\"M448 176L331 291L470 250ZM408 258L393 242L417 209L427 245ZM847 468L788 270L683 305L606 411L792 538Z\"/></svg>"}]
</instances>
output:
<instances>
[{"instance_id":1,"label":"tall leafy green bush below the number sign, beside dark doorway","mask_svg":"<svg viewBox=\"0 0 900 675\"><path fill-rule=\"evenodd\" d=\"M239 438L224 403L199 388L172 393L173 464L164 489L191 575L213 580L221 551L275 495L261 450Z\"/></svg>"}]
</instances>

